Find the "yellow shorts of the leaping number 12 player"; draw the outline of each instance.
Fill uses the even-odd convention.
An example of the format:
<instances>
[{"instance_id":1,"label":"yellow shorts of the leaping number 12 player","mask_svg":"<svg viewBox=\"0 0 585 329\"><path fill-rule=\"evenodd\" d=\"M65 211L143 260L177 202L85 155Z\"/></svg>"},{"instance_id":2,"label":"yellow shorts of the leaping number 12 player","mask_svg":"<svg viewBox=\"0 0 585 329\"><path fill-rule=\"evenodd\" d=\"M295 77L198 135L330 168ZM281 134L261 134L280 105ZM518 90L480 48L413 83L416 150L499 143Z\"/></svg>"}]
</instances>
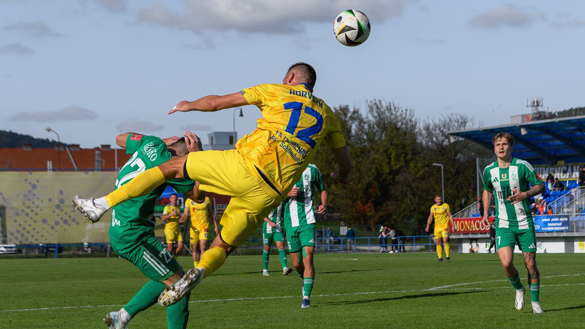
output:
<instances>
[{"instance_id":1,"label":"yellow shorts of the leaping number 12 player","mask_svg":"<svg viewBox=\"0 0 585 329\"><path fill-rule=\"evenodd\" d=\"M232 197L220 222L228 245L242 244L283 200L238 150L191 152L185 167L200 190Z\"/></svg>"}]
</instances>

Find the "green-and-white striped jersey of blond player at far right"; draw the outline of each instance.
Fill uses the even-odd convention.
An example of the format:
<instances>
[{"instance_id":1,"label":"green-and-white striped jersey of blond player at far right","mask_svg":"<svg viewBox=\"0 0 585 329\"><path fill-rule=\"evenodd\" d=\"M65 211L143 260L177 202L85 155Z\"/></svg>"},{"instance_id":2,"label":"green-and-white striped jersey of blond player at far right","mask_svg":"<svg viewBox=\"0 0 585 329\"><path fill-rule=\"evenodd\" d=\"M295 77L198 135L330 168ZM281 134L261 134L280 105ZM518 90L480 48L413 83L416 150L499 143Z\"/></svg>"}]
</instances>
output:
<instances>
[{"instance_id":1,"label":"green-and-white striped jersey of blond player at far right","mask_svg":"<svg viewBox=\"0 0 585 329\"><path fill-rule=\"evenodd\" d=\"M512 158L510 167L500 168L496 161L483 170L484 189L494 194L495 225L498 228L534 228L530 198L515 204L506 200L512 195L512 190L528 191L530 183L539 185L544 181L530 163L516 157Z\"/></svg>"}]
</instances>

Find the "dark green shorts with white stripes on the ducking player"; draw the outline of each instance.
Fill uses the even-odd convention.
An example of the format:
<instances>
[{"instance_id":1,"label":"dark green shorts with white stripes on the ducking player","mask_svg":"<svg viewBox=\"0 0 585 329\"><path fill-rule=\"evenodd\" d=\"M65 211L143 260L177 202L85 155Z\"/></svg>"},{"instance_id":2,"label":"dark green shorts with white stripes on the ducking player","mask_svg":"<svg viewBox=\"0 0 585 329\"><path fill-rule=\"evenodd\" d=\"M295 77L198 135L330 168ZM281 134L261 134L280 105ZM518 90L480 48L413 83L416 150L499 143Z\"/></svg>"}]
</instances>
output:
<instances>
[{"instance_id":1,"label":"dark green shorts with white stripes on the ducking player","mask_svg":"<svg viewBox=\"0 0 585 329\"><path fill-rule=\"evenodd\" d=\"M116 255L133 263L150 279L163 282L181 267L168 249L152 234L143 235L138 241L110 241Z\"/></svg>"}]
</instances>

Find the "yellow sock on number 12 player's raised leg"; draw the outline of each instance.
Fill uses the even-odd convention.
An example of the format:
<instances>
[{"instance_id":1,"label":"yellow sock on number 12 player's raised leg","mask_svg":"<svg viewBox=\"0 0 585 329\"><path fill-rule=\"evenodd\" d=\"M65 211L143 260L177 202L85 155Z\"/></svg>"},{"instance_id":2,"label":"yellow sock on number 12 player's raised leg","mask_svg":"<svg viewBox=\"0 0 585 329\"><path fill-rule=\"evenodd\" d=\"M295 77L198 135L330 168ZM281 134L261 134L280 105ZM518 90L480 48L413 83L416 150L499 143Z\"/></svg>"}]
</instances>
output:
<instances>
[{"instance_id":1,"label":"yellow sock on number 12 player's raised leg","mask_svg":"<svg viewBox=\"0 0 585 329\"><path fill-rule=\"evenodd\" d=\"M165 181L163 172L160 171L159 167L151 168L108 194L106 196L106 202L110 207L114 207L131 198L146 195L146 193L149 193Z\"/></svg>"}]
</instances>

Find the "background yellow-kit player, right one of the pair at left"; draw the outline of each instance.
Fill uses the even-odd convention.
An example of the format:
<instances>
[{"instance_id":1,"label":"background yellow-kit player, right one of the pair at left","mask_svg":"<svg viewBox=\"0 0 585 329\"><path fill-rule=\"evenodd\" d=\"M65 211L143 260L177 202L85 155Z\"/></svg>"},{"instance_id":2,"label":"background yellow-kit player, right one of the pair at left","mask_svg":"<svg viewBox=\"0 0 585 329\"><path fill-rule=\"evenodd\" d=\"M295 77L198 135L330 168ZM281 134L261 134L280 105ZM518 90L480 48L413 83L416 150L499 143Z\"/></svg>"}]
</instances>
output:
<instances>
[{"instance_id":1,"label":"background yellow-kit player, right one of the pair at left","mask_svg":"<svg viewBox=\"0 0 585 329\"><path fill-rule=\"evenodd\" d=\"M191 236L190 243L193 253L193 265L196 268L199 264L199 255L202 255L207 250L209 219L213 218L214 220L215 235L219 234L218 221L215 218L213 204L209 197L205 197L203 203L196 203L190 198L187 198L185 200L185 211L181 220L185 221L189 215L191 216L191 228L189 229Z\"/></svg>"}]
</instances>

